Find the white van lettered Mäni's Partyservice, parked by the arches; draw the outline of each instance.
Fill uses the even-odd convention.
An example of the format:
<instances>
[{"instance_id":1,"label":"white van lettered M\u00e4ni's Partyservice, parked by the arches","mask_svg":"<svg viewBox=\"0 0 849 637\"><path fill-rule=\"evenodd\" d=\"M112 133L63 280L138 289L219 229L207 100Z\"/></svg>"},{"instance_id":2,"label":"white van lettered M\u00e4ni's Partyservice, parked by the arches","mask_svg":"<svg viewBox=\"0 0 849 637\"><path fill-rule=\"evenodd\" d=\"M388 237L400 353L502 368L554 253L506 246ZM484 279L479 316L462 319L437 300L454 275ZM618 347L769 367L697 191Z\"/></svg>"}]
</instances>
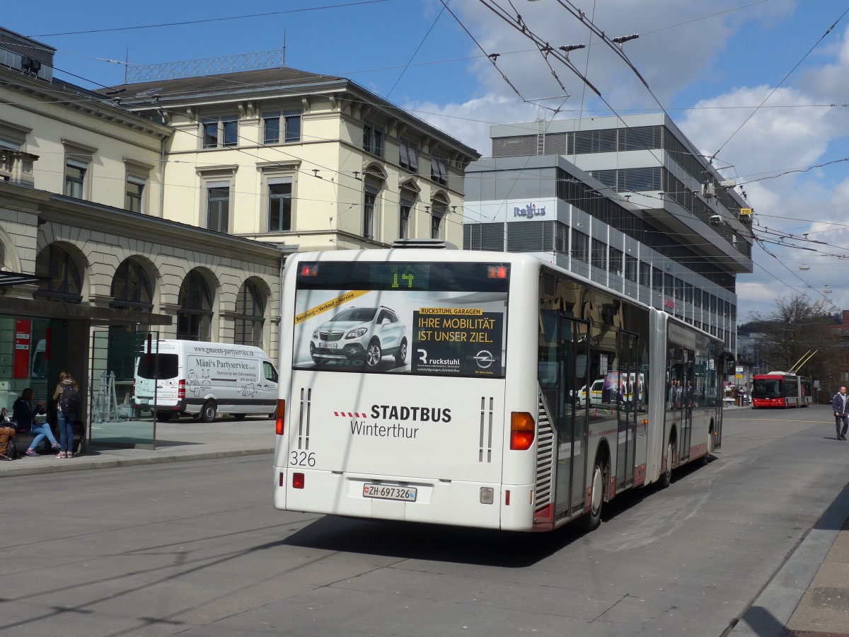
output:
<instances>
[{"instance_id":1,"label":"white van lettered M\u00e4ni's Partyservice, parked by the arches","mask_svg":"<svg viewBox=\"0 0 849 637\"><path fill-rule=\"evenodd\" d=\"M132 403L159 420L194 414L211 422L216 414L273 414L277 369L259 347L232 343L164 340L156 353L136 360Z\"/></svg>"}]
</instances>

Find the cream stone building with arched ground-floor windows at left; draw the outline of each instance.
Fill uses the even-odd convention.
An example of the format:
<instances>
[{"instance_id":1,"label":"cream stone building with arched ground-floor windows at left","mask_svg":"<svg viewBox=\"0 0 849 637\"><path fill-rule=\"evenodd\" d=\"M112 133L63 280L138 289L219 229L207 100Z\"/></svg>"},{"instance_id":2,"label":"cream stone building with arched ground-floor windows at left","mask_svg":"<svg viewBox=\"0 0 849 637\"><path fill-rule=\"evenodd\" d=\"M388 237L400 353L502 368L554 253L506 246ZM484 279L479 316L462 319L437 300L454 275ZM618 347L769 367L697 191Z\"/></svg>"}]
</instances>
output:
<instances>
[{"instance_id":1,"label":"cream stone building with arched ground-floor windows at left","mask_svg":"<svg viewBox=\"0 0 849 637\"><path fill-rule=\"evenodd\" d=\"M232 75L93 93L0 29L0 406L61 369L121 399L149 333L276 358L291 251L461 242L474 150L343 78Z\"/></svg>"}]
</instances>

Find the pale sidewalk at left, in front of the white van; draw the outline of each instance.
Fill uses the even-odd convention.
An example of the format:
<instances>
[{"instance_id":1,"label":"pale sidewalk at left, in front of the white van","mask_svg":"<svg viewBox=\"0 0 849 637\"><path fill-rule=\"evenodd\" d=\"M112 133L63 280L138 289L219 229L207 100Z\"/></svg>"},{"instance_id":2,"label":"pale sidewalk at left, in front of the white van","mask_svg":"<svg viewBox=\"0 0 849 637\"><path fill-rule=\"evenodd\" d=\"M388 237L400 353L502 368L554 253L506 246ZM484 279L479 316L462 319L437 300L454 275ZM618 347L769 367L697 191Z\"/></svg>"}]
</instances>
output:
<instances>
[{"instance_id":1,"label":"pale sidewalk at left, in front of the white van","mask_svg":"<svg viewBox=\"0 0 849 637\"><path fill-rule=\"evenodd\" d=\"M233 455L271 454L274 449L274 421L216 420L209 424L194 420L175 420L156 424L156 448L108 448L91 444L86 454L70 459L53 455L37 458L24 456L12 462L0 462L0 479L32 476L58 471L110 469L117 466L155 465L223 458Z\"/></svg>"}]
</instances>

